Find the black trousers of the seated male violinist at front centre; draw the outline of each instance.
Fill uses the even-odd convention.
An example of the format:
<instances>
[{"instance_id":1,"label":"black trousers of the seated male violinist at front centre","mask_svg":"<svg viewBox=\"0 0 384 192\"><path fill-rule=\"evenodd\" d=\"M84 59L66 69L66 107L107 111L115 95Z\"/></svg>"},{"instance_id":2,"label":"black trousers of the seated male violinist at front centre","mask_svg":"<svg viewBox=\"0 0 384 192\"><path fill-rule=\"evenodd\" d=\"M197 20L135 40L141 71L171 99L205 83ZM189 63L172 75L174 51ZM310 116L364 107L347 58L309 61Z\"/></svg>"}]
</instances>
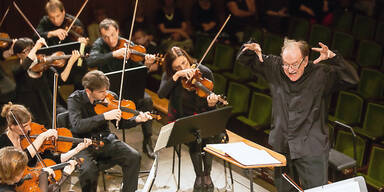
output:
<instances>
[{"instance_id":1,"label":"black trousers of the seated male violinist at front centre","mask_svg":"<svg viewBox=\"0 0 384 192\"><path fill-rule=\"evenodd\" d=\"M119 165L123 171L122 191L137 190L141 156L128 144L116 139L111 143L106 142L99 150L88 148L77 156L84 158L79 177L83 192L96 192L99 171L114 165Z\"/></svg>"}]
</instances>

